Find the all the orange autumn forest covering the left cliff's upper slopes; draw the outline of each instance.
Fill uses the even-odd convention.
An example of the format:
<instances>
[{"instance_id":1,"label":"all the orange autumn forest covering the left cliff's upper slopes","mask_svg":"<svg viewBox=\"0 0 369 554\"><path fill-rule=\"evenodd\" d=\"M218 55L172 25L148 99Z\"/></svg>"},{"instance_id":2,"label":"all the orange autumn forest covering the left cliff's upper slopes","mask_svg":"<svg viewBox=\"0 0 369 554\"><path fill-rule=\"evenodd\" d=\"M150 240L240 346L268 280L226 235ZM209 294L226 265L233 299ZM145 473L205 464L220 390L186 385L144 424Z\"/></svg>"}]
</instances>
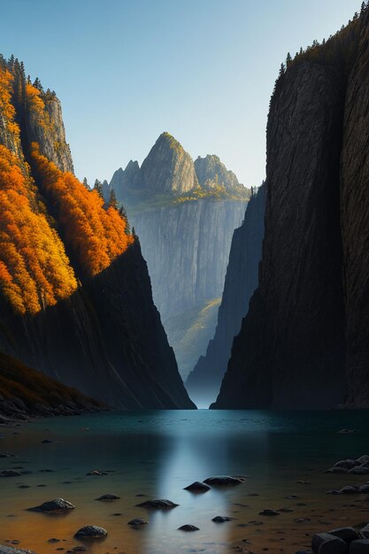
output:
<instances>
[{"instance_id":1,"label":"all the orange autumn forest covering the left cliff's upper slopes","mask_svg":"<svg viewBox=\"0 0 369 554\"><path fill-rule=\"evenodd\" d=\"M25 78L18 60L0 60L0 112L7 136L0 146L0 284L19 314L35 314L67 298L78 287L77 275L95 276L135 241L127 219L73 173L61 171L38 142L22 149L23 114L31 113L52 133L50 103L55 101L50 91Z\"/></svg>"}]
</instances>

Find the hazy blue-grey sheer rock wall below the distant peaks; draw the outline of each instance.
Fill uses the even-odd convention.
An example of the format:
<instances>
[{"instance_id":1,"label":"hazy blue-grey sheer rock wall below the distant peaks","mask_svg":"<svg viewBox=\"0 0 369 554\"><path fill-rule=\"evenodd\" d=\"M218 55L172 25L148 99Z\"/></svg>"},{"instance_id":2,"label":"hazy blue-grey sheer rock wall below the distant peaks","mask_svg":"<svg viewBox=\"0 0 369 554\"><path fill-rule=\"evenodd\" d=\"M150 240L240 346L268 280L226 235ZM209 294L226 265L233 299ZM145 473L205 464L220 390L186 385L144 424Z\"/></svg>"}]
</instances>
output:
<instances>
[{"instance_id":1,"label":"hazy blue-grey sheer rock wall below the distant peaks","mask_svg":"<svg viewBox=\"0 0 369 554\"><path fill-rule=\"evenodd\" d=\"M199 318L206 305L210 301L217 304L221 296L232 235L244 210L241 201L204 199L131 217L149 266L154 303L183 376L213 335L216 306L208 306L211 317L206 323ZM202 335L200 342L182 342L191 327L196 329L195 335Z\"/></svg>"}]
</instances>

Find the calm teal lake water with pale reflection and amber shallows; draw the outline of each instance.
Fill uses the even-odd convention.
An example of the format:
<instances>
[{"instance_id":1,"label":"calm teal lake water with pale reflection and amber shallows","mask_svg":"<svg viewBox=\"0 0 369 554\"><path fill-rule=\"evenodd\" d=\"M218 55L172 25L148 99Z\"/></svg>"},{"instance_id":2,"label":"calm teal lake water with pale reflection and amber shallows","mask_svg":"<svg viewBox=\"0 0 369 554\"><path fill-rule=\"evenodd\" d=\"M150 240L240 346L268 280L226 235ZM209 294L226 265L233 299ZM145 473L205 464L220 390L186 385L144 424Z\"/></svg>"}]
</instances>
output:
<instances>
[{"instance_id":1,"label":"calm teal lake water with pale reflection and amber shallows","mask_svg":"<svg viewBox=\"0 0 369 554\"><path fill-rule=\"evenodd\" d=\"M353 524L366 519L362 504L350 507L344 505L347 498L337 500L325 494L327 489L365 478L323 472L338 459L369 453L368 415L347 411L105 412L42 419L0 430L4 435L0 452L17 454L17 458L1 458L0 470L19 466L27 472L0 480L0 543L17 540L39 554L68 550L80 544L73 539L79 527L98 525L109 535L103 542L88 543L88 551L96 554L223 554L237 545L243 548L245 538L252 542L253 552L268 548L268 552L292 554L308 546L317 527L325 530L327 518L328 527L330 522L348 518L354 519ZM338 434L342 427L357 432ZM14 431L19 434L13 435ZM44 444L44 439L53 442ZM86 475L94 469L108 474ZM246 479L236 488L211 489L203 495L183 489L214 474ZM310 484L296 482L301 480ZM21 488L24 485L28 488ZM120 499L96 502L97 496L106 493ZM298 498L286 498L291 495ZM76 509L65 517L27 512L28 507L58 496ZM180 506L169 512L147 512L135 505L149 497L168 498ZM258 515L264 508L282 505L294 512L281 514L278 523ZM217 515L234 520L217 525L211 521ZM127 521L136 517L147 519L149 525L131 529ZM300 525L296 518L309 521ZM250 523L260 519L262 526ZM200 531L177 530L187 523ZM60 542L49 543L53 537Z\"/></svg>"}]
</instances>

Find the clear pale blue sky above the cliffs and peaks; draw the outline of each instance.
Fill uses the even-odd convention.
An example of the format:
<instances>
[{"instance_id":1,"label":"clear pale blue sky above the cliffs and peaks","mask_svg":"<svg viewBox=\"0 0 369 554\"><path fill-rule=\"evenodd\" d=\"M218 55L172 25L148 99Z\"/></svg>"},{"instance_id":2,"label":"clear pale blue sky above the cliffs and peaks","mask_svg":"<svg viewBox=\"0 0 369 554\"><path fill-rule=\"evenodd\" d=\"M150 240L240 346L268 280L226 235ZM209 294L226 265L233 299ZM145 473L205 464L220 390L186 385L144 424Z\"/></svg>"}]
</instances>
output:
<instances>
[{"instance_id":1,"label":"clear pale blue sky above the cliffs and peaks","mask_svg":"<svg viewBox=\"0 0 369 554\"><path fill-rule=\"evenodd\" d=\"M0 0L0 51L62 101L77 176L110 180L163 131L265 175L273 83L290 51L346 23L361 0Z\"/></svg>"}]
</instances>

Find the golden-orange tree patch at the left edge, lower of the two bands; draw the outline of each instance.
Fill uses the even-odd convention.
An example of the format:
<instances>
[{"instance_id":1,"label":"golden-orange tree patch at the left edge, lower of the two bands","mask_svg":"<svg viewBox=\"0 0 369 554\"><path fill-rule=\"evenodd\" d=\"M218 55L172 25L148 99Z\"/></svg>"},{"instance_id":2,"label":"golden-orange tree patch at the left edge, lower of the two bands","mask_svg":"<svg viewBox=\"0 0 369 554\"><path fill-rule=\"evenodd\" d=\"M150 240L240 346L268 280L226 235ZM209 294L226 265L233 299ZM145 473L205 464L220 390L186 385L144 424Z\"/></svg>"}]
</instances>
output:
<instances>
[{"instance_id":1,"label":"golden-orange tree patch at the left edge, lower of the two bands","mask_svg":"<svg viewBox=\"0 0 369 554\"><path fill-rule=\"evenodd\" d=\"M64 245L39 211L19 160L0 145L0 284L16 312L35 314L77 288Z\"/></svg>"}]
</instances>

